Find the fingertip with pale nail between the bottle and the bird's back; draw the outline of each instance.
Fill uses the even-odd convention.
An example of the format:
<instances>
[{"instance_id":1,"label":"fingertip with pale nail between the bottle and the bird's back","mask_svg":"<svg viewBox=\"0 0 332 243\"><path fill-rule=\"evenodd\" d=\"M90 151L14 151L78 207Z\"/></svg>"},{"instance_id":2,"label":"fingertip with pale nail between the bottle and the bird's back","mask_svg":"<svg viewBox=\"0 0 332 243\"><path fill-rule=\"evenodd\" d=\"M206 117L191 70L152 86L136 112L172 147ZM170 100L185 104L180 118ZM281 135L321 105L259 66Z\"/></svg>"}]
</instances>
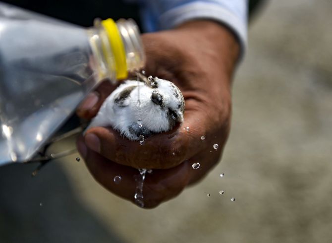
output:
<instances>
[{"instance_id":1,"label":"fingertip with pale nail between the bottle and the bird's back","mask_svg":"<svg viewBox=\"0 0 332 243\"><path fill-rule=\"evenodd\" d=\"M89 93L87 97L81 102L76 110L76 114L84 119L92 119L99 111L99 108L105 99L111 94L117 85L110 81L103 81L95 91Z\"/></svg>"}]
</instances>

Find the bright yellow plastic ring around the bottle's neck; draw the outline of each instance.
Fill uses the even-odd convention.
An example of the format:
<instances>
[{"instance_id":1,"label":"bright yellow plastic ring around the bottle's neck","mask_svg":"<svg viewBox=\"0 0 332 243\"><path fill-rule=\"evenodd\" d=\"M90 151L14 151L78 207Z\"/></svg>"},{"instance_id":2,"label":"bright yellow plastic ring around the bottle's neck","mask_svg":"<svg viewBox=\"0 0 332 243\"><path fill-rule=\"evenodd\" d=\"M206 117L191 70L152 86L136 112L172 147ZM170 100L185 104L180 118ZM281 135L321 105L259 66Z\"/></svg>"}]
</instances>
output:
<instances>
[{"instance_id":1,"label":"bright yellow plastic ring around the bottle's neck","mask_svg":"<svg viewBox=\"0 0 332 243\"><path fill-rule=\"evenodd\" d=\"M102 21L102 25L106 30L106 33L110 41L110 47L113 52L114 61L115 61L116 79L117 80L125 79L128 76L126 52L124 49L120 33L117 29L116 23L112 19L106 19ZM107 60L109 60L110 53L104 50L104 55L107 57Z\"/></svg>"}]
</instances>

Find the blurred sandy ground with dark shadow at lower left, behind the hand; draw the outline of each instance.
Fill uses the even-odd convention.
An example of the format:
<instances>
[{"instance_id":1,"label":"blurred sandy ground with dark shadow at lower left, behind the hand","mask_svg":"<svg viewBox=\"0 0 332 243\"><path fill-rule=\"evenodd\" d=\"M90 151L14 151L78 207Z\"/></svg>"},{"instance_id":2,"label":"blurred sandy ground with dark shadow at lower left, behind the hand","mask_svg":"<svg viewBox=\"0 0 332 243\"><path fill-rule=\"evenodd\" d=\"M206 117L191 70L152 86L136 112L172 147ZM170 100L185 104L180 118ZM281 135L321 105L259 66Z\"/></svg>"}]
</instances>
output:
<instances>
[{"instance_id":1,"label":"blurred sandy ground with dark shadow at lower left, behind the hand","mask_svg":"<svg viewBox=\"0 0 332 243\"><path fill-rule=\"evenodd\" d=\"M252 19L223 159L199 184L144 210L77 154L34 178L35 164L0 167L0 243L330 243L331 10L278 0Z\"/></svg>"}]
</instances>

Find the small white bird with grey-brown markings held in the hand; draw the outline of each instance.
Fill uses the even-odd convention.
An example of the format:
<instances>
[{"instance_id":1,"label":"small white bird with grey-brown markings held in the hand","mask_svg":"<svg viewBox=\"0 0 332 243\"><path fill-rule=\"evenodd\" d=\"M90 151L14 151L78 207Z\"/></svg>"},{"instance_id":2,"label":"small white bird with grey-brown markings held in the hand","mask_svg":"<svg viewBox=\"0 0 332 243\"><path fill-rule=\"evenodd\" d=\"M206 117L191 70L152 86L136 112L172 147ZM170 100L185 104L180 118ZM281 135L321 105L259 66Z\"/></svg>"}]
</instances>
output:
<instances>
[{"instance_id":1,"label":"small white bird with grey-brown markings held in the hand","mask_svg":"<svg viewBox=\"0 0 332 243\"><path fill-rule=\"evenodd\" d=\"M112 126L129 140L172 129L183 122L184 98L172 82L157 77L127 80L106 98L88 128Z\"/></svg>"}]
</instances>

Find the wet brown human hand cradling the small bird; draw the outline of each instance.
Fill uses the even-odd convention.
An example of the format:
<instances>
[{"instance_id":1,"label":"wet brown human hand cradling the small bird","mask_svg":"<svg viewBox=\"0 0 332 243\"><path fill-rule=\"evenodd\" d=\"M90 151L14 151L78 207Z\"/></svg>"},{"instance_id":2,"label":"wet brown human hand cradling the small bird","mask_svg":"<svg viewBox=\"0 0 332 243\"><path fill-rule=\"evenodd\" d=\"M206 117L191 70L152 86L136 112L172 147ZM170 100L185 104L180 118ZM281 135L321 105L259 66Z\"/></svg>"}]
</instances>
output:
<instances>
[{"instance_id":1,"label":"wet brown human hand cradling the small bird","mask_svg":"<svg viewBox=\"0 0 332 243\"><path fill-rule=\"evenodd\" d=\"M182 91L184 123L147 138L143 145L120 137L111 127L93 127L78 139L77 146L95 179L129 201L134 201L135 168L152 168L143 188L144 205L150 208L177 196L219 161L229 133L230 88L239 47L225 27L205 20L145 34L142 39L147 75L172 81ZM94 92L98 95L91 94L77 114L94 117L114 88L102 83ZM200 167L193 169L193 163ZM116 175L122 177L119 184L113 181Z\"/></svg>"}]
</instances>

